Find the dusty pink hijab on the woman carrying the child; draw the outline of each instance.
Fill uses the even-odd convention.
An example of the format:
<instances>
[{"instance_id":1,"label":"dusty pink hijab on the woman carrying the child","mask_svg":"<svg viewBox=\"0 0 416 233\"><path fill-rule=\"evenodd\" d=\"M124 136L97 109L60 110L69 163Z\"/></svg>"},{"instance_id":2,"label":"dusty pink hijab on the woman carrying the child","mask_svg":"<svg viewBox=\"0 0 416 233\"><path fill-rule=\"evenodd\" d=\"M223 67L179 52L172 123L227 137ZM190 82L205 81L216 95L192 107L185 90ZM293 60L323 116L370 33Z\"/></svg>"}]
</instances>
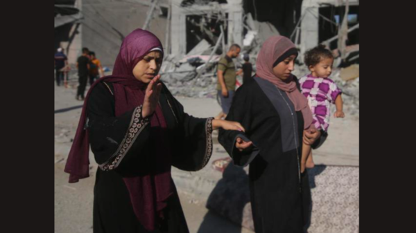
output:
<instances>
[{"instance_id":1,"label":"dusty pink hijab on the woman carrying the child","mask_svg":"<svg viewBox=\"0 0 416 233\"><path fill-rule=\"evenodd\" d=\"M290 39L282 36L269 37L261 46L260 53L257 57L257 76L263 80L268 80L275 84L281 91L287 93L289 99L295 105L296 111L302 111L304 118L304 129L308 129L313 121L311 109L309 109L308 100L299 90L297 90L296 82L293 75L283 81L273 73L273 64L277 59L281 58L291 48L296 48Z\"/></svg>"}]
</instances>

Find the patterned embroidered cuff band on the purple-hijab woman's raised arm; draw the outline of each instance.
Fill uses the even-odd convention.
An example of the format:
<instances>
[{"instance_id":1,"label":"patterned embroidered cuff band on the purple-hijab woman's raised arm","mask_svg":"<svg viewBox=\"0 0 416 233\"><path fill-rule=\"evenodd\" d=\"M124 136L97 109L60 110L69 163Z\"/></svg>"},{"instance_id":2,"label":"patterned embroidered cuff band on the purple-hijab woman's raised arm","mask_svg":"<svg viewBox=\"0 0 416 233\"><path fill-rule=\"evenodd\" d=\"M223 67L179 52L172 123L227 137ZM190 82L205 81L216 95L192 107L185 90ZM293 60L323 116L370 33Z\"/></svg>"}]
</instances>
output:
<instances>
[{"instance_id":1,"label":"patterned embroidered cuff band on the purple-hijab woman's raised arm","mask_svg":"<svg viewBox=\"0 0 416 233\"><path fill-rule=\"evenodd\" d=\"M130 121L128 131L125 133L123 140L120 143L119 148L110 157L107 162L99 165L103 171L110 171L119 166L121 160L123 160L125 154L129 151L130 147L135 143L135 140L143 131L143 129L149 124L149 118L143 118L141 116L141 109L143 105L138 106L133 112L132 119Z\"/></svg>"}]
</instances>

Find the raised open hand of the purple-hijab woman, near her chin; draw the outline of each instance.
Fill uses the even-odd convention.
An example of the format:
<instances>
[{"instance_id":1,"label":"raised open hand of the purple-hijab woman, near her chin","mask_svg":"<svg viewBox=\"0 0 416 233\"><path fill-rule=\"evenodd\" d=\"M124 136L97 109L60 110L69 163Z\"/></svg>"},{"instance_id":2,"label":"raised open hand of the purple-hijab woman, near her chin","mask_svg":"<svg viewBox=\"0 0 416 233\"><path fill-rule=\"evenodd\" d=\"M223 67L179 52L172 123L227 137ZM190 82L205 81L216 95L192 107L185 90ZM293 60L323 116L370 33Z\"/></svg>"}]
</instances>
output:
<instances>
[{"instance_id":1,"label":"raised open hand of the purple-hijab woman, near her chin","mask_svg":"<svg viewBox=\"0 0 416 233\"><path fill-rule=\"evenodd\" d=\"M148 84L146 93L144 95L143 109L141 115L143 118L152 115L155 111L157 103L159 102L160 91L162 91L162 84L159 82L160 75L156 75Z\"/></svg>"}]
</instances>

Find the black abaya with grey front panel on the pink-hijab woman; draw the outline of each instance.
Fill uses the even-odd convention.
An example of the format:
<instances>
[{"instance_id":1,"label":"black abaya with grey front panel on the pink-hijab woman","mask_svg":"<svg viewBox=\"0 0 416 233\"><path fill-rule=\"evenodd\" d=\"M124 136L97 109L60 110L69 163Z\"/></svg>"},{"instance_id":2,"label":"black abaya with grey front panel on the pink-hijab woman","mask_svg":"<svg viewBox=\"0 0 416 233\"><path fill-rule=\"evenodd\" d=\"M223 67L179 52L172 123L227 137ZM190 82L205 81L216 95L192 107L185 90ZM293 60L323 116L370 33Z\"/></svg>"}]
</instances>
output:
<instances>
[{"instance_id":1,"label":"black abaya with grey front panel on the pink-hijab woman","mask_svg":"<svg viewBox=\"0 0 416 233\"><path fill-rule=\"evenodd\" d=\"M284 91L254 77L234 96L226 120L245 133L220 129L218 140L234 164L249 167L250 199L256 232L302 233L309 208L306 171L300 174L304 121ZM254 147L240 152L237 137Z\"/></svg>"}]
</instances>

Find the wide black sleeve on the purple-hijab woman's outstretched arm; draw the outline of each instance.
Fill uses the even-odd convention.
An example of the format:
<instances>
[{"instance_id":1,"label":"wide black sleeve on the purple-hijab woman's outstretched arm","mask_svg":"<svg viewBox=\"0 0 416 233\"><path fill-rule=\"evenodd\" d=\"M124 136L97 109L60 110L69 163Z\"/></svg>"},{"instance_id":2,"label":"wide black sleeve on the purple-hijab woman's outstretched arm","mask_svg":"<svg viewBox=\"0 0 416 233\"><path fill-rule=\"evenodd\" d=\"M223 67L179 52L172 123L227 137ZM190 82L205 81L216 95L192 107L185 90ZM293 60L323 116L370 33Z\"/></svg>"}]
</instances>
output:
<instances>
[{"instance_id":1,"label":"wide black sleeve on the purple-hijab woman's outstretched arm","mask_svg":"<svg viewBox=\"0 0 416 233\"><path fill-rule=\"evenodd\" d=\"M171 139L173 150L172 165L185 171L198 171L207 165L212 155L212 120L214 118L195 118L184 112L166 86L168 104L175 115L177 127Z\"/></svg>"}]
</instances>

